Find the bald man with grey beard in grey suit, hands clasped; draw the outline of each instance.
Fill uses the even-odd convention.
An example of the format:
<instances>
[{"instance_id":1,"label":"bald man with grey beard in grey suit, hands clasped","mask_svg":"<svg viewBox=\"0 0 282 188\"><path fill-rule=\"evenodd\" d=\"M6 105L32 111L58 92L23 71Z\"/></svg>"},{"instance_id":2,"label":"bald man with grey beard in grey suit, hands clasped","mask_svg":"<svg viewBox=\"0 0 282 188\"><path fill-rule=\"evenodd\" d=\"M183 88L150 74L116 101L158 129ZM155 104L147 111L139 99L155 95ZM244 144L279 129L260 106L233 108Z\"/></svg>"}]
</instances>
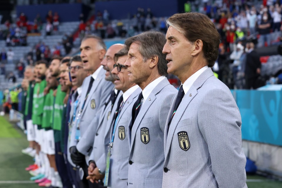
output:
<instances>
[{"instance_id":1,"label":"bald man with grey beard in grey suit, hands clasped","mask_svg":"<svg viewBox=\"0 0 282 188\"><path fill-rule=\"evenodd\" d=\"M113 70L113 66L115 64L114 56L115 54L123 49L123 44L114 44L109 47L105 58L101 62L103 68L106 70L105 73L105 80L114 82L115 78L114 75L111 73ZM108 119L110 118L110 113L113 108L113 104L115 103L117 97L119 97L120 91L117 89L113 89L111 95L108 96L102 111L99 112L100 116L96 116L96 122L93 124L98 124L96 132L95 132L95 139L93 143L93 150L89 157L89 167L88 167L88 177L91 182L94 183L94 180L103 179L103 173L105 172L105 147L104 147L104 139L105 139L105 128L107 126ZM93 137L93 135L91 135ZM107 143L108 144L108 143Z\"/></svg>"}]
</instances>

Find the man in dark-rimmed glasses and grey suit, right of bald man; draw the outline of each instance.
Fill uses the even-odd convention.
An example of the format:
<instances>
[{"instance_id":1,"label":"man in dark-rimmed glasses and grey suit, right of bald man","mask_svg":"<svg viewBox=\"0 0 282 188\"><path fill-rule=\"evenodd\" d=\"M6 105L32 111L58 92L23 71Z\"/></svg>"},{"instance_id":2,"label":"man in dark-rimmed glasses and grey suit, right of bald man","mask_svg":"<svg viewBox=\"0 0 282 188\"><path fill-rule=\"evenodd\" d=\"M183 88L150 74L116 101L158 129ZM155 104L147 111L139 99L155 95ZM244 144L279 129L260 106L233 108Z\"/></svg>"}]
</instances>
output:
<instances>
[{"instance_id":1,"label":"man in dark-rimmed glasses and grey suit, right of bald man","mask_svg":"<svg viewBox=\"0 0 282 188\"><path fill-rule=\"evenodd\" d=\"M104 185L108 187L127 187L128 179L128 124L132 114L132 107L142 91L134 82L129 81L127 67L127 49L115 54L115 65L112 70L115 89L123 92L117 103L117 108L111 126L107 130L109 137L107 147L107 161Z\"/></svg>"}]
</instances>

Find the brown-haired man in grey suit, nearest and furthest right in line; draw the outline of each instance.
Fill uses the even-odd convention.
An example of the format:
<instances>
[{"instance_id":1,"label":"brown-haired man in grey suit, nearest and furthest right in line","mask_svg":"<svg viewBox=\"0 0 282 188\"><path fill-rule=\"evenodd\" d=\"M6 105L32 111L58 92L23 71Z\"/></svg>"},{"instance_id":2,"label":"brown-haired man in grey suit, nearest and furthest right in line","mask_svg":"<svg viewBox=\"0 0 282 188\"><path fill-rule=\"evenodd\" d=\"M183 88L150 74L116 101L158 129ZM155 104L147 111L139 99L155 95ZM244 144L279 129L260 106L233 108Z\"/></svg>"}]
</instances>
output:
<instances>
[{"instance_id":1,"label":"brown-haired man in grey suit, nearest and furthest right in line","mask_svg":"<svg viewBox=\"0 0 282 188\"><path fill-rule=\"evenodd\" d=\"M220 36L200 13L174 14L167 24L167 71L182 85L164 131L162 186L246 188L240 112L211 69Z\"/></svg>"}]
</instances>

